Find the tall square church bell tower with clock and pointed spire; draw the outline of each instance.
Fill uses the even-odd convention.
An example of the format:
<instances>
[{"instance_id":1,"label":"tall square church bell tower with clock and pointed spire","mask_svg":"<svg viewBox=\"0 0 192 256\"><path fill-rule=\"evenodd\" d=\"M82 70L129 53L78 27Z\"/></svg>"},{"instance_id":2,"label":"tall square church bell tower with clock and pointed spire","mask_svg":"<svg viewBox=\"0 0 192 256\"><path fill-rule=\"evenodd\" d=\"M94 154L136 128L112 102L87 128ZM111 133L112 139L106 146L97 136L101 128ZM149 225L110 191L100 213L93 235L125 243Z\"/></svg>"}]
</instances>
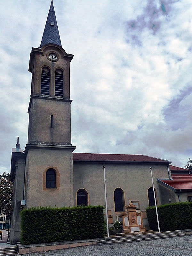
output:
<instances>
[{"instance_id":1,"label":"tall square church bell tower with clock and pointed spire","mask_svg":"<svg viewBox=\"0 0 192 256\"><path fill-rule=\"evenodd\" d=\"M39 48L32 48L24 198L31 206L73 205L70 71L61 46L53 1Z\"/></svg>"}]
</instances>

